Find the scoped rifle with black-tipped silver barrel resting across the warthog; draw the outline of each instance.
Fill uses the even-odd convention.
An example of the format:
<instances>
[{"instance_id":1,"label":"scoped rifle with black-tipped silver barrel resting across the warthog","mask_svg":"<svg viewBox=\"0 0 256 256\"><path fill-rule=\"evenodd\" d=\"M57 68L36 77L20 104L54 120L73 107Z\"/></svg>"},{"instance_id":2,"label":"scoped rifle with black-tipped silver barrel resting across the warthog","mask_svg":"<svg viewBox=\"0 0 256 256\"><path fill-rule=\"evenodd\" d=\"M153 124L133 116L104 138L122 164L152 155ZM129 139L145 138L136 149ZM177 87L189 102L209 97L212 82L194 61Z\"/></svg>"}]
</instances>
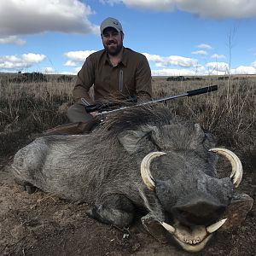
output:
<instances>
[{"instance_id":1,"label":"scoped rifle with black-tipped silver barrel resting across the warthog","mask_svg":"<svg viewBox=\"0 0 256 256\"><path fill-rule=\"evenodd\" d=\"M137 108L137 107L141 107L141 106L145 106L145 105L152 105L152 104L155 104L158 102L166 103L170 100L177 99L177 98L180 98L183 96L189 96L189 97L196 96L196 95L201 95L203 93L212 92L214 90L218 90L218 85L212 85L212 86L207 86L207 87L203 87L203 88L199 88L199 89L195 89L195 90L189 90L189 91L187 91L183 94L177 95L177 96L167 96L165 98L152 100L150 102L143 102L143 103L139 103L139 104L132 105L132 106L125 106L125 107L120 107L120 108L115 108L115 109L110 109L110 110L108 108L115 107L115 106L119 105L119 103L118 102L96 103L93 105L84 106L84 108L88 113L95 112L95 111L99 112L96 114L95 122L92 123L92 125L96 125L97 123L102 121L104 118L104 115L108 114L108 113L114 113L117 111L125 110L127 108ZM131 96L131 97L127 98L124 102L137 102L137 98L136 98L136 96ZM43 133L44 133L44 135L81 134L84 132L84 130L88 130L86 127L87 125L88 124L85 124L84 122L70 123L67 125L56 126L55 128L43 131Z\"/></svg>"}]
</instances>

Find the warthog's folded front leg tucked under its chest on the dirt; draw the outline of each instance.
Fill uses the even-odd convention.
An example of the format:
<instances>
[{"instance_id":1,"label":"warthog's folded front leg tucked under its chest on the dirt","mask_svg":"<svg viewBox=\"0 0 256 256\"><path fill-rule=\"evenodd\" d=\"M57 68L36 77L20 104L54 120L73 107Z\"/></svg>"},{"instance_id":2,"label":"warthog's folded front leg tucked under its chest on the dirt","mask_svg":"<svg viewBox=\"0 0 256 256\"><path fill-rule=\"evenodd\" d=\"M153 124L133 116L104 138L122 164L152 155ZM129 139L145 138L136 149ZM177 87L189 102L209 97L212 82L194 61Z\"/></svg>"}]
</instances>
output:
<instances>
[{"instance_id":1,"label":"warthog's folded front leg tucked under its chest on the dirt","mask_svg":"<svg viewBox=\"0 0 256 256\"><path fill-rule=\"evenodd\" d=\"M86 213L90 218L120 228L131 224L135 214L133 204L125 195L108 195Z\"/></svg>"}]
</instances>

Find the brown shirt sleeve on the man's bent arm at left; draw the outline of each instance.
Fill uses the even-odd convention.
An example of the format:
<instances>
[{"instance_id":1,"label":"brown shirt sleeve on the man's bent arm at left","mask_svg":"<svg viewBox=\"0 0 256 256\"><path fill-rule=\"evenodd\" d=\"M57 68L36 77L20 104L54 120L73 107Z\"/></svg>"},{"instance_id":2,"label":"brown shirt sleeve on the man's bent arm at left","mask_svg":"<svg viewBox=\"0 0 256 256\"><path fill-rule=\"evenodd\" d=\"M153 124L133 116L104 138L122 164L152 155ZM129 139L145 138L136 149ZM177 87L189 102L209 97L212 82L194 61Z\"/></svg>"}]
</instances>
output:
<instances>
[{"instance_id":1,"label":"brown shirt sleeve on the man's bent arm at left","mask_svg":"<svg viewBox=\"0 0 256 256\"><path fill-rule=\"evenodd\" d=\"M95 72L94 65L91 57L89 56L84 65L78 73L78 78L73 89L73 100L76 103L81 103L81 98L88 103L93 104L93 100L90 97L90 87L94 84Z\"/></svg>"}]
</instances>

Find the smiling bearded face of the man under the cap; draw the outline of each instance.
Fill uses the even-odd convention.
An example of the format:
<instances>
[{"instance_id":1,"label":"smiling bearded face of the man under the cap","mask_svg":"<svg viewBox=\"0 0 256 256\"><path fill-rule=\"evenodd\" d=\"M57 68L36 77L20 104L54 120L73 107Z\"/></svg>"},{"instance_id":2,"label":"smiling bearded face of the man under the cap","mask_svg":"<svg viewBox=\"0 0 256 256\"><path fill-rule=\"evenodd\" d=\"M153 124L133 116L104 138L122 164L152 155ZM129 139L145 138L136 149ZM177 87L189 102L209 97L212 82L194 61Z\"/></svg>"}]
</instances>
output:
<instances>
[{"instance_id":1,"label":"smiling bearded face of the man under the cap","mask_svg":"<svg viewBox=\"0 0 256 256\"><path fill-rule=\"evenodd\" d=\"M118 55L123 49L123 34L113 27L107 27L102 33L102 43L109 55Z\"/></svg>"}]
</instances>

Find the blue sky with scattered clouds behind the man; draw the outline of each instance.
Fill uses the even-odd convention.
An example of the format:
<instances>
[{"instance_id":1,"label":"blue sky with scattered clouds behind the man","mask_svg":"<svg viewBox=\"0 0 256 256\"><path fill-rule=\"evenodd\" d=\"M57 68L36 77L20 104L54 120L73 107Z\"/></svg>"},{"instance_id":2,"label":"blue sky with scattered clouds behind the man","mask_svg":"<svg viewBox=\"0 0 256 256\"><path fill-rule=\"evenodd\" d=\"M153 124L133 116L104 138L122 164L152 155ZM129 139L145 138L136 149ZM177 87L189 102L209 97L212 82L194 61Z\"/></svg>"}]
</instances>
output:
<instances>
[{"instance_id":1,"label":"blue sky with scattered clouds behind the man","mask_svg":"<svg viewBox=\"0 0 256 256\"><path fill-rule=\"evenodd\" d=\"M0 72L77 74L107 17L153 76L256 74L256 0L0 0Z\"/></svg>"}]
</instances>

